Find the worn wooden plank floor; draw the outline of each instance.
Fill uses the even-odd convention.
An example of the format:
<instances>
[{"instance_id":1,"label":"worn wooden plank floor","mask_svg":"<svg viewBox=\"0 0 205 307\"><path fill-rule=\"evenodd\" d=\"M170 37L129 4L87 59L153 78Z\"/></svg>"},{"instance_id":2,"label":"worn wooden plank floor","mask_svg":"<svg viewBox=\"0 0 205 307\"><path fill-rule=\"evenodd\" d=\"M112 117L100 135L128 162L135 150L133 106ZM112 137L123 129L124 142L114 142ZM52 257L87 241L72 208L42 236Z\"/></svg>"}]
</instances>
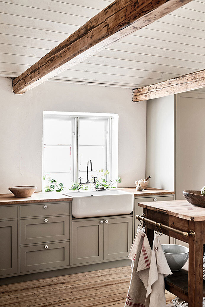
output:
<instances>
[{"instance_id":1,"label":"worn wooden plank floor","mask_svg":"<svg viewBox=\"0 0 205 307\"><path fill-rule=\"evenodd\" d=\"M130 267L72 274L1 286L1 307L124 307ZM167 307L173 294L166 291Z\"/></svg>"}]
</instances>

